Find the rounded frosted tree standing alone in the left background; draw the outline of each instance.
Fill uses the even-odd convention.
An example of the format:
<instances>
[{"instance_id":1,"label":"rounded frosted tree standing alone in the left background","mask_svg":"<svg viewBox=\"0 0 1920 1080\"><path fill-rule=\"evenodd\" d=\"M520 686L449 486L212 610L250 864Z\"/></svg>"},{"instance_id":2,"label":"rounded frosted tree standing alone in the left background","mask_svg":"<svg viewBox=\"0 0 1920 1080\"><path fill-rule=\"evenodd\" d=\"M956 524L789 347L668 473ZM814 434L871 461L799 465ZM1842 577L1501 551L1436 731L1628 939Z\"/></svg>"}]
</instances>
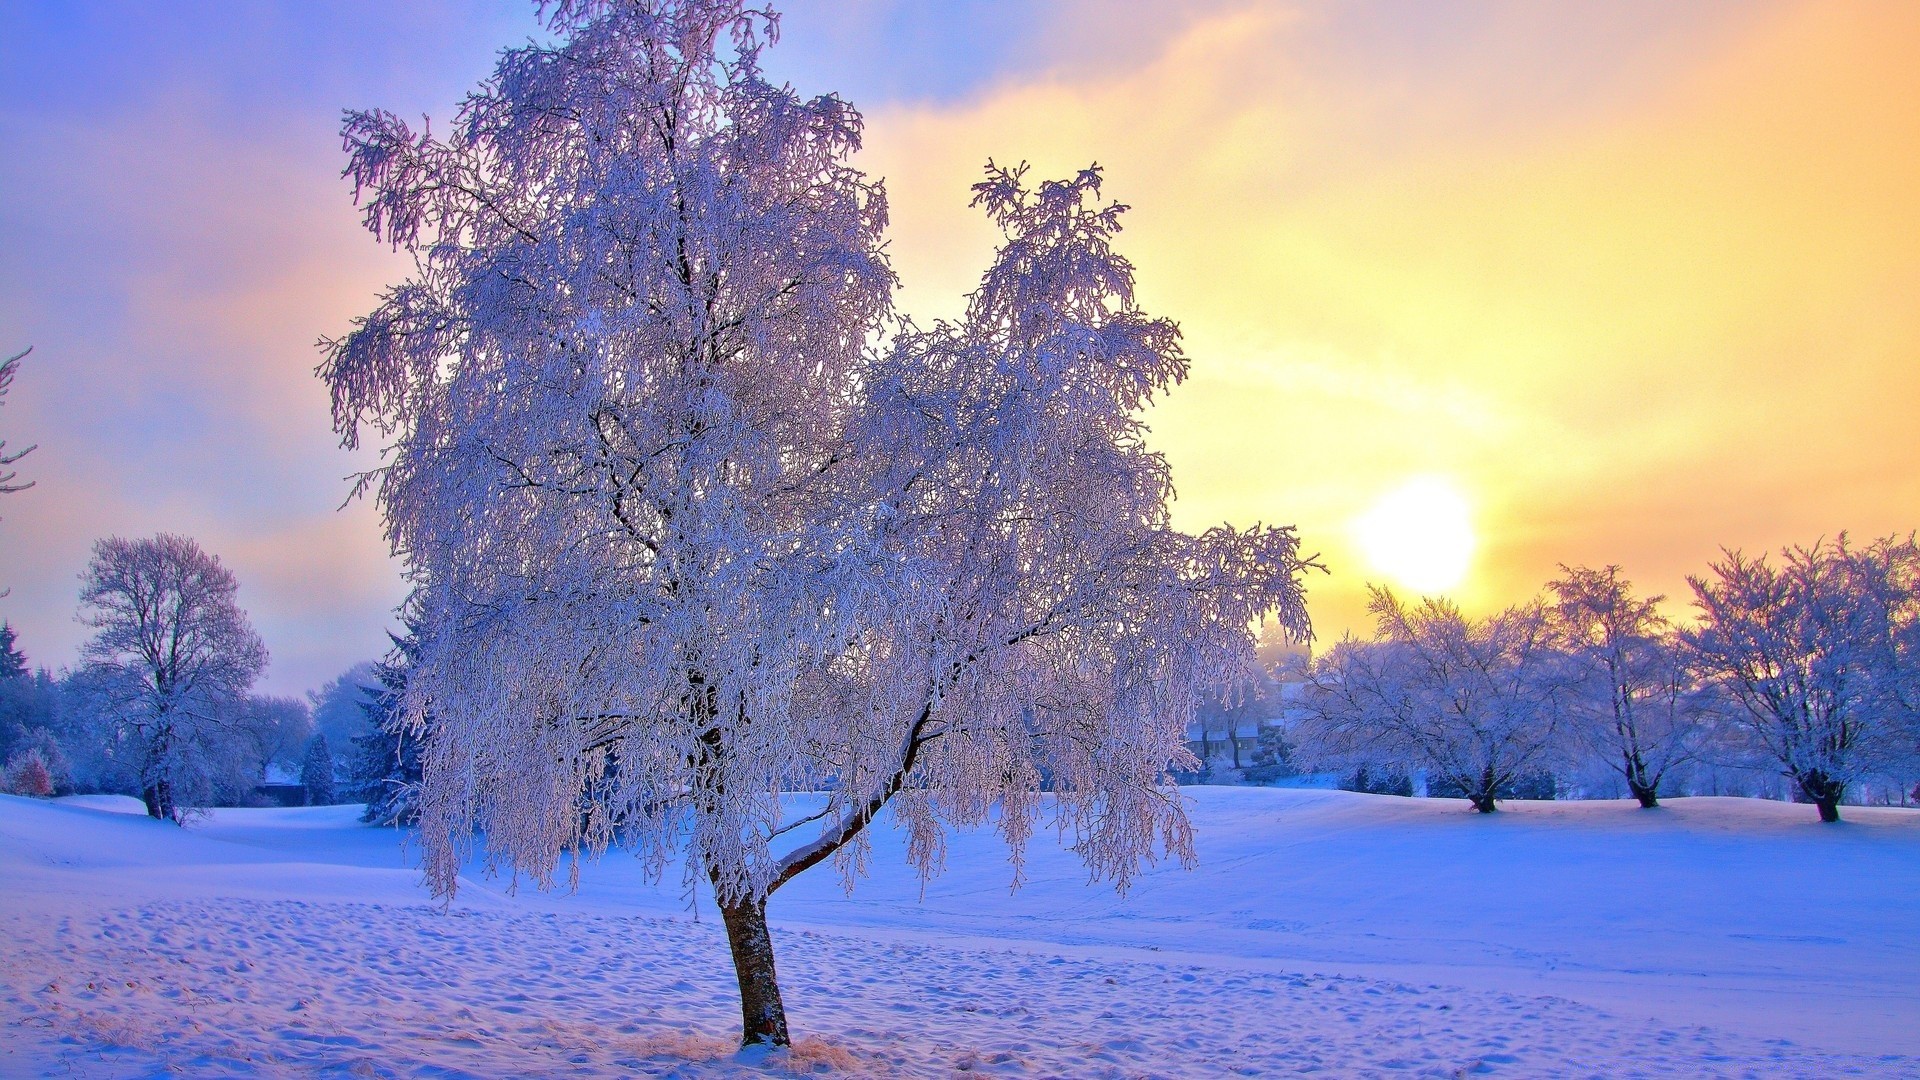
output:
<instances>
[{"instance_id":1,"label":"rounded frosted tree standing alone in the left background","mask_svg":"<svg viewBox=\"0 0 1920 1080\"><path fill-rule=\"evenodd\" d=\"M115 738L146 813L179 821L186 782L209 782L215 744L267 667L234 603L234 575L186 536L94 544L81 575L77 690Z\"/></svg>"}]
</instances>

